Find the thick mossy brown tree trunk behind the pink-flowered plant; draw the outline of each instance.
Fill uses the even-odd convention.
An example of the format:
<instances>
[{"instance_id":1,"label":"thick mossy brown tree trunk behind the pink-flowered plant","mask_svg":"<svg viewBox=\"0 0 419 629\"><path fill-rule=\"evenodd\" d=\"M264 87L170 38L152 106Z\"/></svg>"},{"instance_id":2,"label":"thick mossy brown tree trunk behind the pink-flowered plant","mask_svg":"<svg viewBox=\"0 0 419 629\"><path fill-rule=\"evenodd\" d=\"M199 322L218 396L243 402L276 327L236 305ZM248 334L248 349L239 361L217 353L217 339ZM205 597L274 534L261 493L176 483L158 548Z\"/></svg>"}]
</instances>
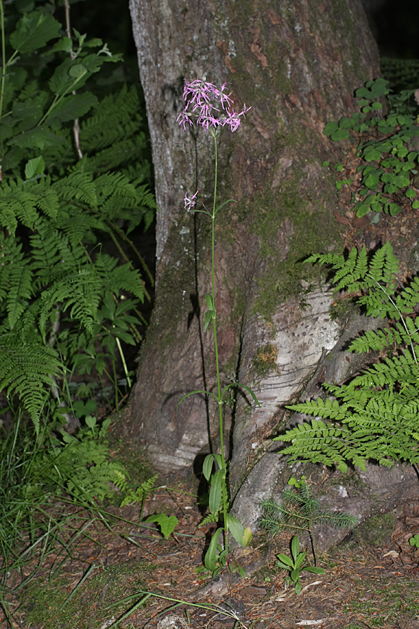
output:
<instances>
[{"instance_id":1,"label":"thick mossy brown tree trunk behind the pink-flowered plant","mask_svg":"<svg viewBox=\"0 0 419 629\"><path fill-rule=\"evenodd\" d=\"M378 75L358 0L130 0L152 140L156 197L156 303L140 352L127 425L156 468L181 470L216 451L216 408L179 398L215 381L210 222L184 211L186 191L210 205L212 138L184 131L184 80L228 82L236 108L251 106L219 141L219 199L235 198L216 229L216 312L223 384L251 386L224 412L232 497L265 451L278 411L302 388L341 331L315 252L340 252L333 185L322 162L339 159L322 131L353 110L353 90ZM205 302L204 302L205 303ZM177 410L176 410L177 408ZM246 525L245 525L246 526Z\"/></svg>"}]
</instances>

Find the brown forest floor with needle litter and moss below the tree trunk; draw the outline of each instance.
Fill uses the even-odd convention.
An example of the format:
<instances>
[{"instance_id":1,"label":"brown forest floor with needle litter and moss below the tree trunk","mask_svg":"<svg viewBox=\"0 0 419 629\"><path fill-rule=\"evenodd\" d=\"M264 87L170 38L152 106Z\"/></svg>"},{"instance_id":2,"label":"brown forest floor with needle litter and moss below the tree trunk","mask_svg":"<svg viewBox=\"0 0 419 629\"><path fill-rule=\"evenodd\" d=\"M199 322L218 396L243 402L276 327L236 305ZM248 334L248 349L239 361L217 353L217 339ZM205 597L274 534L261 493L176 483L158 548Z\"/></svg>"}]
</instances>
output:
<instances>
[{"instance_id":1,"label":"brown forest floor with needle litter and moss below the tree trunk","mask_svg":"<svg viewBox=\"0 0 419 629\"><path fill-rule=\"evenodd\" d=\"M274 566L277 552L289 554L289 535L272 540L269 556L267 538L255 535L242 563L265 561L244 579L197 574L209 528L198 528L202 516L191 487L186 480L161 487L146 505L145 514L177 516L168 540L156 528L138 526L138 505L109 507L111 528L70 507L67 543L8 578L13 628L419 629L419 549L409 545L419 533L419 498L369 520L320 556L326 574L303 572L295 595ZM59 513L63 505L51 508ZM307 559L312 563L309 553ZM233 610L237 620L223 610ZM10 627L1 614L0 627Z\"/></svg>"}]
</instances>

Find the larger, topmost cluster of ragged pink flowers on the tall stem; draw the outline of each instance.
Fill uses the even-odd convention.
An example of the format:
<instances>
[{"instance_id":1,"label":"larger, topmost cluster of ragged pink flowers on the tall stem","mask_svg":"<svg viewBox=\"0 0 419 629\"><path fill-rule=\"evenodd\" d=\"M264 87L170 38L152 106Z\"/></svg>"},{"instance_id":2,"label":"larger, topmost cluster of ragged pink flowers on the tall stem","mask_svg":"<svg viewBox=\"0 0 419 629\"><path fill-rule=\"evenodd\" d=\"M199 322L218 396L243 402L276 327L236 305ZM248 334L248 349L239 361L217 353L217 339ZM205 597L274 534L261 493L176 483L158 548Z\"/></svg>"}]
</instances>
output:
<instances>
[{"instance_id":1,"label":"larger, topmost cluster of ragged pink flowers on the tall stem","mask_svg":"<svg viewBox=\"0 0 419 629\"><path fill-rule=\"evenodd\" d=\"M230 94L225 94L226 83L219 89L216 85L203 79L192 82L186 81L184 88L184 101L186 106L177 117L179 124L186 129L186 123L193 125L192 118L196 118L196 124L200 124L209 133L210 129L219 129L221 126L229 126L230 131L236 131L241 123L241 117L249 111L250 107L243 106L240 113L231 109L233 105Z\"/></svg>"}]
</instances>

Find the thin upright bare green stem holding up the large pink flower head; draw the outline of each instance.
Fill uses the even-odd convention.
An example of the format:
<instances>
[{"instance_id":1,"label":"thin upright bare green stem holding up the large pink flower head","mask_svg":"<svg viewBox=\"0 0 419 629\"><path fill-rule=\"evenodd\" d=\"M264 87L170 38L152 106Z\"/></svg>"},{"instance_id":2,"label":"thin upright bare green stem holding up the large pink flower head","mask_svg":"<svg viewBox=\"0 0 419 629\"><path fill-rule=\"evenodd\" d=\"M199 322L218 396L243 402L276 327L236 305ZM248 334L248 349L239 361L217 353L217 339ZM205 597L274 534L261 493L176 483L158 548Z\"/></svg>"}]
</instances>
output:
<instances>
[{"instance_id":1,"label":"thin upright bare green stem holding up the large pink flower head","mask_svg":"<svg viewBox=\"0 0 419 629\"><path fill-rule=\"evenodd\" d=\"M212 319L212 326L214 328L214 349L215 349L215 366L216 366L216 387L217 398L219 405L219 429L220 429L220 454L221 454L221 469L223 470L223 528L224 528L224 549L227 547L227 514L228 514L228 497L227 497L227 467L226 458L224 456L224 436L223 436L223 400L221 396L221 380L220 380L220 368L219 368L219 353L218 344L216 340L216 309L215 309L215 264L214 264L214 252L215 252L215 215L216 215L216 184L218 175L218 152L216 146L216 135L214 134L214 148L215 148L215 179L214 179L214 202L212 204L212 243L211 243L211 296L212 306L215 314Z\"/></svg>"}]
</instances>

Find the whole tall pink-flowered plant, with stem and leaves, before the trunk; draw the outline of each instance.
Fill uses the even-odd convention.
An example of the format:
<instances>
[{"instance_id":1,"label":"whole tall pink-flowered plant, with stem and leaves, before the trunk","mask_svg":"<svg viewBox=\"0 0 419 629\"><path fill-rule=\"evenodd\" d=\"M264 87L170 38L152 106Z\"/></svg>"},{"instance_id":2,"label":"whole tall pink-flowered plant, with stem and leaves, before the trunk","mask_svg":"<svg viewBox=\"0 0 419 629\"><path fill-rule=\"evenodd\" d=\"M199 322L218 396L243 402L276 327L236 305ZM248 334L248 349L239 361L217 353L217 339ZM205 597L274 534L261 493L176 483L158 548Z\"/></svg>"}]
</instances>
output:
<instances>
[{"instance_id":1,"label":"whole tall pink-flowered plant, with stem and leaves, before the trunk","mask_svg":"<svg viewBox=\"0 0 419 629\"><path fill-rule=\"evenodd\" d=\"M217 528L216 532L212 536L210 546L205 554L205 567L210 570L214 576L228 563L228 533L236 540L237 543L246 546L251 540L251 531L249 528L244 529L242 523L229 513L228 503L228 475L227 475L227 461L224 454L224 437L223 437L223 398L226 392L232 387L241 386L245 389L253 400L259 405L258 399L248 386L240 384L238 382L232 382L221 389L221 378L219 369L219 351L216 337L216 308L215 308L215 265L214 265L214 253L215 253L215 221L216 215L223 208L226 203L234 201L234 199L228 199L223 201L219 205L216 205L216 193L217 193L217 175L218 175L218 152L217 152L217 137L223 127L228 127L230 131L236 131L244 118L244 115L250 108L246 108L244 105L240 113L233 110L233 100L230 99L230 94L226 94L226 83L221 88L216 87L212 83L206 81L205 77L202 80L195 80L193 82L186 81L184 88L184 100L186 106L184 111L179 115L177 121L183 126L184 129L187 125L193 126L194 122L199 126L202 126L207 133L212 136L214 140L214 195L212 210L208 210L205 205L203 209L196 208L196 199L198 196L198 190L193 195L186 194L184 197L185 209L190 212L201 212L210 217L212 222L212 238L211 238L211 293L205 295L205 301L207 302L207 312L205 313L204 329L207 330L208 326L212 322L212 331L214 334L214 356L216 366L216 394L210 391L191 391L186 393L185 396L179 400L179 404L185 398L195 393L205 393L207 396L214 398L219 410L219 438L220 438L220 451L216 454L208 454L205 457L203 464L203 474L207 481L210 483L210 515L205 518L204 522L218 522L221 524ZM222 543L219 543L220 535L223 535ZM230 564L231 567L231 564ZM238 568L238 567L237 567ZM242 572L241 568L238 568Z\"/></svg>"}]
</instances>

